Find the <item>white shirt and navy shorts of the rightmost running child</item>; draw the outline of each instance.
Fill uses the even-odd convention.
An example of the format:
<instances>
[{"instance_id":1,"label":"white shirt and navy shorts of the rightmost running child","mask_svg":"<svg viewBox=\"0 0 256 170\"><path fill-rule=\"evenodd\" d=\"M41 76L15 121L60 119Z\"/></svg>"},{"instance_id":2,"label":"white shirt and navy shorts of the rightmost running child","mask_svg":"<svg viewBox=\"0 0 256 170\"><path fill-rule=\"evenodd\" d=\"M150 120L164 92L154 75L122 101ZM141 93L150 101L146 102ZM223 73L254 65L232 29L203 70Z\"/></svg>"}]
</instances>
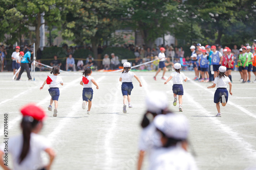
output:
<instances>
[{"instance_id":1,"label":"white shirt and navy shorts of the rightmost running child","mask_svg":"<svg viewBox=\"0 0 256 170\"><path fill-rule=\"evenodd\" d=\"M226 102L228 100L228 91L227 84L230 82L230 79L226 76L220 78L219 76L215 78L214 84L217 85L217 89L214 94L214 103L222 103L221 96L224 95Z\"/></svg>"}]
</instances>

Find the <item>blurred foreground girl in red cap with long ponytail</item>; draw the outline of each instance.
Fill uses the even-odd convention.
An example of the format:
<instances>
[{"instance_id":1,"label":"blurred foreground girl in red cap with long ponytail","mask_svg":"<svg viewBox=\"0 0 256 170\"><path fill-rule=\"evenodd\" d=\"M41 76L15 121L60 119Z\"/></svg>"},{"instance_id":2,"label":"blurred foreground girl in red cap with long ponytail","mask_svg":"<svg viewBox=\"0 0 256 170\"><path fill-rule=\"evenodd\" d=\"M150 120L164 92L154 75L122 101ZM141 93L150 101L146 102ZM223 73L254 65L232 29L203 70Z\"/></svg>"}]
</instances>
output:
<instances>
[{"instance_id":1,"label":"blurred foreground girl in red cap with long ponytail","mask_svg":"<svg viewBox=\"0 0 256 170\"><path fill-rule=\"evenodd\" d=\"M55 157L55 152L50 147L48 140L39 135L43 127L45 111L34 104L23 107L20 112L23 114L21 135L11 137L8 142L8 152L6 144L0 146L0 166L3 169L10 169L3 160L4 155L12 156L13 169L44 170L50 169ZM41 153L49 155L49 163L44 164Z\"/></svg>"}]
</instances>

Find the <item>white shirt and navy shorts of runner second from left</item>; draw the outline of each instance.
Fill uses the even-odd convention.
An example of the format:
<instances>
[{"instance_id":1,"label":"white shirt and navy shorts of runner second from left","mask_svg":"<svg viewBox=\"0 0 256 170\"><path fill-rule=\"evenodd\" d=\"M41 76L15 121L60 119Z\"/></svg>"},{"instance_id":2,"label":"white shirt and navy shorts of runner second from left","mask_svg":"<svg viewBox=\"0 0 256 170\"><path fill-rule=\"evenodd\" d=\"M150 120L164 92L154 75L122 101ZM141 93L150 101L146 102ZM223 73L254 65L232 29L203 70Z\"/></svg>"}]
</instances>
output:
<instances>
[{"instance_id":1,"label":"white shirt and navy shorts of runner second from left","mask_svg":"<svg viewBox=\"0 0 256 170\"><path fill-rule=\"evenodd\" d=\"M85 78L88 80L87 84L83 84L83 89L82 89L82 100L83 101L92 101L93 100L93 82L94 78L92 76L85 76Z\"/></svg>"}]
</instances>

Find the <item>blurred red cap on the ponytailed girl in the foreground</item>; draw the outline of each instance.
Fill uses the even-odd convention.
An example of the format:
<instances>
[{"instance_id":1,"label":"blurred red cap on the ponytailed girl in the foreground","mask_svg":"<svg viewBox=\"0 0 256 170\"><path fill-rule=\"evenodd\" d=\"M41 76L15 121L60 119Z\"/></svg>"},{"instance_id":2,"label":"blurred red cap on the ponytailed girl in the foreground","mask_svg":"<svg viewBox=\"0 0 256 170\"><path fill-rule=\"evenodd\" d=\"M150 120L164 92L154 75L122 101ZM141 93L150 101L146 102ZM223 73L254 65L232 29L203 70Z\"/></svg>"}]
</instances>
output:
<instances>
[{"instance_id":1,"label":"blurred red cap on the ponytailed girl in the foreground","mask_svg":"<svg viewBox=\"0 0 256 170\"><path fill-rule=\"evenodd\" d=\"M31 116L36 120L42 120L46 116L45 111L35 104L28 104L24 106L20 109L20 112L22 112L23 116Z\"/></svg>"}]
</instances>

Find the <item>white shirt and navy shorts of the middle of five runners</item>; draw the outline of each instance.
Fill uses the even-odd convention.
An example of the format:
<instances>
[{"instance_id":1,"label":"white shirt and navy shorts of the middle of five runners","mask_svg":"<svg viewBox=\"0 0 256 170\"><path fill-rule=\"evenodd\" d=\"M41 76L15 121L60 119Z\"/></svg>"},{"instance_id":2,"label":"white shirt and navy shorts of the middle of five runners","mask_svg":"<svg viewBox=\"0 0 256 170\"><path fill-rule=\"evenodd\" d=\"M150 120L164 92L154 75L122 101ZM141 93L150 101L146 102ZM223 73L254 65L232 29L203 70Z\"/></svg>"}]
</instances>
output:
<instances>
[{"instance_id":1,"label":"white shirt and navy shorts of the middle of five runners","mask_svg":"<svg viewBox=\"0 0 256 170\"><path fill-rule=\"evenodd\" d=\"M133 77L135 76L135 73L132 71L123 72L120 74L120 78L122 78L122 94L123 95L131 95L131 92L133 90Z\"/></svg>"}]
</instances>

